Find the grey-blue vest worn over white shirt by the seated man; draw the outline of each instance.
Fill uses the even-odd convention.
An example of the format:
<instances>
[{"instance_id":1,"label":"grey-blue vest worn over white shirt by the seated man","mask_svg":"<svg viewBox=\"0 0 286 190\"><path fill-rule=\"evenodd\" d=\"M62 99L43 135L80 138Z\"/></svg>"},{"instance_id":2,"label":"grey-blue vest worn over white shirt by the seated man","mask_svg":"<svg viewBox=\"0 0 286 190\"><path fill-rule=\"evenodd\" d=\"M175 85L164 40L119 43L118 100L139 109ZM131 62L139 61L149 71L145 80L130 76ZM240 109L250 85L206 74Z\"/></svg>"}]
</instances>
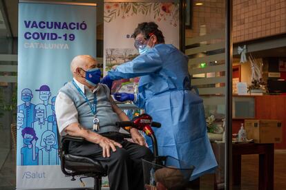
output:
<instances>
[{"instance_id":1,"label":"grey-blue vest worn over white shirt by the seated man","mask_svg":"<svg viewBox=\"0 0 286 190\"><path fill-rule=\"evenodd\" d=\"M93 112L90 109L90 106L78 92L73 82L68 82L64 87L59 89L59 92L66 94L75 104L77 108L79 123L86 129L93 129ZM85 87L85 95L88 98L91 105L93 105L94 94ZM111 107L109 101L110 90L106 85L99 84L99 88L95 92L97 98L97 112L96 116L99 119L99 131L95 131L97 134L102 134L111 131L119 131L119 127L115 125L115 122L120 121L120 118L117 116Z\"/></svg>"}]
</instances>

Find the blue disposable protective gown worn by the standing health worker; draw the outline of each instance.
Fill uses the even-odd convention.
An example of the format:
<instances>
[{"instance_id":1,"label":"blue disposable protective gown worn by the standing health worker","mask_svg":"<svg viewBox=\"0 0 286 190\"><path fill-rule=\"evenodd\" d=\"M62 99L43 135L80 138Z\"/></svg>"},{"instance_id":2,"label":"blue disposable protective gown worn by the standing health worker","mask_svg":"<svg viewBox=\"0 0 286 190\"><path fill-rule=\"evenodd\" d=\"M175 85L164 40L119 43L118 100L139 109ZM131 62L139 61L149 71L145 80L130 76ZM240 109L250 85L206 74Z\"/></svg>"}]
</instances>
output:
<instances>
[{"instance_id":1,"label":"blue disposable protective gown worn by the standing health worker","mask_svg":"<svg viewBox=\"0 0 286 190\"><path fill-rule=\"evenodd\" d=\"M216 169L202 99L190 90L187 56L173 45L158 44L108 75L113 80L141 76L135 104L162 124L153 128L160 156L195 166L191 180ZM146 142L152 149L151 138Z\"/></svg>"}]
</instances>

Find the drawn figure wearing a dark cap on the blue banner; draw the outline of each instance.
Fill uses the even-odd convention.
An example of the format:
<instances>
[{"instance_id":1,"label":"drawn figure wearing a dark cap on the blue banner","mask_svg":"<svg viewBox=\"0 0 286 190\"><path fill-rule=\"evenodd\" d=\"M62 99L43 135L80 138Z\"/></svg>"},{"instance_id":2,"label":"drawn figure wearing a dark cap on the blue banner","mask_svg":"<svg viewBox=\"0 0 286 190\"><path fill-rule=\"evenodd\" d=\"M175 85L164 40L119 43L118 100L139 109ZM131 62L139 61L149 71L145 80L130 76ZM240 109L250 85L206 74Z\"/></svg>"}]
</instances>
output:
<instances>
[{"instance_id":1,"label":"drawn figure wearing a dark cap on the blue banner","mask_svg":"<svg viewBox=\"0 0 286 190\"><path fill-rule=\"evenodd\" d=\"M41 85L41 87L36 89L36 91L39 92L39 98L43 101L43 105L46 107L44 118L47 118L53 114L52 105L48 103L51 96L50 87L48 87L48 85Z\"/></svg>"}]
</instances>

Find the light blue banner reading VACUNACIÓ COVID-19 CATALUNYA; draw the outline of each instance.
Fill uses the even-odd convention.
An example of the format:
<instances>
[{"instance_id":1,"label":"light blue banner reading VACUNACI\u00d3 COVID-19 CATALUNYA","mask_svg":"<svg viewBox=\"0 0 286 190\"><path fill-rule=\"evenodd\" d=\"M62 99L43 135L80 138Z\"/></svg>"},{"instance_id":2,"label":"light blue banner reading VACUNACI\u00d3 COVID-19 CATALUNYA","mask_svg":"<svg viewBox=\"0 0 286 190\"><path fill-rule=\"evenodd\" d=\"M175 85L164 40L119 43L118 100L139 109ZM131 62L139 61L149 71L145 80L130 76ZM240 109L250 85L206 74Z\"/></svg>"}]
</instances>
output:
<instances>
[{"instance_id":1,"label":"light blue banner reading VACUNACI\u00d3 COVID-19 CATALUNYA","mask_svg":"<svg viewBox=\"0 0 286 190\"><path fill-rule=\"evenodd\" d=\"M55 98L72 80L70 61L96 57L95 6L19 2L17 189L80 186L61 172Z\"/></svg>"}]
</instances>

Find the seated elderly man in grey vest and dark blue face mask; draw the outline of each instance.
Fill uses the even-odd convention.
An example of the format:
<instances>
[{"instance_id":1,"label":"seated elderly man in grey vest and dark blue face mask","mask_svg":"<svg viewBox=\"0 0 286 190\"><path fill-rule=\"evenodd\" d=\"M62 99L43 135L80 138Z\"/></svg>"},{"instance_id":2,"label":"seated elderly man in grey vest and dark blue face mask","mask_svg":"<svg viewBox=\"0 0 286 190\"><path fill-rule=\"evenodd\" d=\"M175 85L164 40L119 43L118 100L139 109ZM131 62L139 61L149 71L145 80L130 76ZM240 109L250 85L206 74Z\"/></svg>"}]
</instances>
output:
<instances>
[{"instance_id":1,"label":"seated elderly man in grey vest and dark blue face mask","mask_svg":"<svg viewBox=\"0 0 286 190\"><path fill-rule=\"evenodd\" d=\"M84 140L70 141L68 153L99 162L110 189L144 189L141 159L152 160L153 154L137 129L130 130L135 143L120 134L115 123L128 116L114 103L110 89L99 83L97 61L88 55L75 56L70 70L73 81L59 89L55 101L57 125L61 136Z\"/></svg>"}]
</instances>

